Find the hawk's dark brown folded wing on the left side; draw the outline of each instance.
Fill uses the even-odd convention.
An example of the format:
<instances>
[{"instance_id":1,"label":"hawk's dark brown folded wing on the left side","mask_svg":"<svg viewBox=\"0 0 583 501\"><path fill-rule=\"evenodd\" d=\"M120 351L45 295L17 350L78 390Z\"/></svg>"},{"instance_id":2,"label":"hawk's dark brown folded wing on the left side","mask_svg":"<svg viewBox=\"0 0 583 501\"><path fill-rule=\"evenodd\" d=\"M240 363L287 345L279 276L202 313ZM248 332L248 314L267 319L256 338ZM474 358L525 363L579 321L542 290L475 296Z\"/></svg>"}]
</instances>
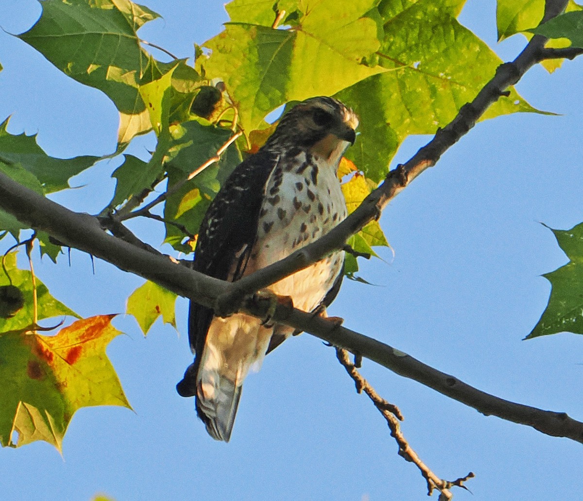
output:
<instances>
[{"instance_id":1,"label":"hawk's dark brown folded wing on the left side","mask_svg":"<svg viewBox=\"0 0 583 501\"><path fill-rule=\"evenodd\" d=\"M241 278L257 237L265 184L278 159L275 153L259 151L241 162L227 178L203 219L193 269L220 280ZM196 372L212 318L212 309L191 301L188 339L196 357L184 380L178 383L178 393L183 396L196 394Z\"/></svg>"}]
</instances>

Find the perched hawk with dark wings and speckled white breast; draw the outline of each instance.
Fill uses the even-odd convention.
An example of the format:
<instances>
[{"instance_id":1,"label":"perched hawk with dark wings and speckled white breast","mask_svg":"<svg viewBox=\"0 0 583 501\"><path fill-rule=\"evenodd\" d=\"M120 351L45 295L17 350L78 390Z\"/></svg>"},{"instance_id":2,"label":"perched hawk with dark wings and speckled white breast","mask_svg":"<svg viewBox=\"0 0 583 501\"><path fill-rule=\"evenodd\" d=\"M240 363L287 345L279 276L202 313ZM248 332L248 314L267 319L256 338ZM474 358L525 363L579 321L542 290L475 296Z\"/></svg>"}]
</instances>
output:
<instances>
[{"instance_id":1,"label":"perched hawk with dark wings and speckled white breast","mask_svg":"<svg viewBox=\"0 0 583 501\"><path fill-rule=\"evenodd\" d=\"M356 139L358 118L331 97L298 103L267 142L231 173L210 204L199 231L193 268L236 281L317 240L346 218L336 175L340 158ZM321 311L342 282L344 251L269 286L294 307ZM241 386L266 353L293 334L244 313L227 318L190 303L188 333L192 363L177 384L195 397L209 435L229 442Z\"/></svg>"}]
</instances>

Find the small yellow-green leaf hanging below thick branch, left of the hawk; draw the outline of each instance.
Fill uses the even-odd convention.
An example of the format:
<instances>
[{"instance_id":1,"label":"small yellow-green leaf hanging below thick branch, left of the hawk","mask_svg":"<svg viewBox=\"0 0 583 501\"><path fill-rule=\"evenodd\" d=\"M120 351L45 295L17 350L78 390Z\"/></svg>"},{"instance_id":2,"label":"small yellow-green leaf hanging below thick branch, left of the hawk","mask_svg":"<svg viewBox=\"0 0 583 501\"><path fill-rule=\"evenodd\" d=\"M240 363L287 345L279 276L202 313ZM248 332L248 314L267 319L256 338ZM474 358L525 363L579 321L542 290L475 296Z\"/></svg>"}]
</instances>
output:
<instances>
[{"instance_id":1,"label":"small yellow-green leaf hanging below thick branch, left of the hawk","mask_svg":"<svg viewBox=\"0 0 583 501\"><path fill-rule=\"evenodd\" d=\"M128 297L128 307L125 313L135 317L144 335L160 316L165 324L170 324L176 328L174 316L176 297L174 292L170 292L154 282L147 281Z\"/></svg>"}]
</instances>

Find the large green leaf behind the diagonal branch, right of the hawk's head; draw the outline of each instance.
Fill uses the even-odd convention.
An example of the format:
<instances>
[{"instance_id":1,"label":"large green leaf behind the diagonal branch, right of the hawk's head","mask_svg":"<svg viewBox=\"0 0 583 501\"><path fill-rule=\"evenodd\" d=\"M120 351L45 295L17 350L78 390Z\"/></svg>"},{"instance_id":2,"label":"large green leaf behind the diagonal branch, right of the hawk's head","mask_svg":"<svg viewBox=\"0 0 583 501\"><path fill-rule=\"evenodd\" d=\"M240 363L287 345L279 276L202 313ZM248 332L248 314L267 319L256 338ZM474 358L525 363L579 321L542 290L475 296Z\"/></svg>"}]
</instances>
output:
<instances>
[{"instance_id":1,"label":"large green leaf behind the diagonal branch, right of the hawk's head","mask_svg":"<svg viewBox=\"0 0 583 501\"><path fill-rule=\"evenodd\" d=\"M387 69L335 97L359 115L361 135L346 156L380 182L399 144L411 134L434 134L471 101L501 60L456 20L465 0L383 0L384 40L378 55ZM511 89L484 115L537 111Z\"/></svg>"}]
</instances>

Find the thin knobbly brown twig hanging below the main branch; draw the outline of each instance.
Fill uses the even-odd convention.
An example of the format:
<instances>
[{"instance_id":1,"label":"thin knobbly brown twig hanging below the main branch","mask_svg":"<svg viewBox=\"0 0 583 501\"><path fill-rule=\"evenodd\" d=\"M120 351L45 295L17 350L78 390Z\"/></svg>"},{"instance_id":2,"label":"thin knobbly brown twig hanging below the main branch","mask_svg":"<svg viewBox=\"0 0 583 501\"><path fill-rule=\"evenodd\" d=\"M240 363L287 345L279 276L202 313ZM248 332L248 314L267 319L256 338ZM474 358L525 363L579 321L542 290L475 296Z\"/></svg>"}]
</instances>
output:
<instances>
[{"instance_id":1,"label":"thin knobbly brown twig hanging below the main branch","mask_svg":"<svg viewBox=\"0 0 583 501\"><path fill-rule=\"evenodd\" d=\"M397 445L399 446L399 456L404 458L406 461L410 461L419 468L419 471L423 475L423 478L427 482L427 495L431 496L433 494L434 489L438 489L441 492L441 496L443 499L452 499L453 495L449 488L452 486L462 486L462 482L466 481L468 478L472 478L474 476L473 473L469 473L464 478L458 478L454 482L449 482L447 480L442 480L441 478L437 477L430 468L423 463L421 458L417 456L417 453L412 449L409 445L409 442L403 435L401 431L401 425L399 421L403 421L403 415L396 405L390 404L384 398L382 398L375 389L368 383L366 379L356 370L356 367L353 363L350 363L350 359L348 357L348 352L343 348L338 348L335 346L336 349L336 358L342 364L342 366L346 369L346 372L349 374L350 377L354 380L354 384L356 384L356 391L357 393L366 393L368 398L373 401L374 406L378 409L378 411L382 414L382 416L387 421L387 425L391 430L391 436L396 440Z\"/></svg>"}]
</instances>

